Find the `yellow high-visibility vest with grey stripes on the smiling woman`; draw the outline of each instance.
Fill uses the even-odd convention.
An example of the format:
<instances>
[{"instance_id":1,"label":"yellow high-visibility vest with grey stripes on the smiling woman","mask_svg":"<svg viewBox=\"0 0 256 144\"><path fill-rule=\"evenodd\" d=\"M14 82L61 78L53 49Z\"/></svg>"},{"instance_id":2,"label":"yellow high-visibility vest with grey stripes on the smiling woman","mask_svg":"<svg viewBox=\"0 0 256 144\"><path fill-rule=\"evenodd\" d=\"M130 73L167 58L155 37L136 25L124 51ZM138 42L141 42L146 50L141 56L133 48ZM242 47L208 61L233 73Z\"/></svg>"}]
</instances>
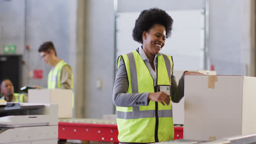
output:
<instances>
[{"instance_id":1,"label":"yellow high-visibility vest with grey stripes on the smiling woman","mask_svg":"<svg viewBox=\"0 0 256 144\"><path fill-rule=\"evenodd\" d=\"M129 87L127 93L154 93L154 81L149 70L137 51L123 57L126 67ZM120 62L120 57L118 64ZM160 54L158 56L157 85L170 85L172 75L172 57ZM119 65L118 65L119 67ZM158 139L173 140L174 129L172 121L172 106L158 103ZM155 142L156 125L155 101L149 101L147 106L117 106L117 124L120 142ZM143 134L143 135L142 135Z\"/></svg>"}]
</instances>

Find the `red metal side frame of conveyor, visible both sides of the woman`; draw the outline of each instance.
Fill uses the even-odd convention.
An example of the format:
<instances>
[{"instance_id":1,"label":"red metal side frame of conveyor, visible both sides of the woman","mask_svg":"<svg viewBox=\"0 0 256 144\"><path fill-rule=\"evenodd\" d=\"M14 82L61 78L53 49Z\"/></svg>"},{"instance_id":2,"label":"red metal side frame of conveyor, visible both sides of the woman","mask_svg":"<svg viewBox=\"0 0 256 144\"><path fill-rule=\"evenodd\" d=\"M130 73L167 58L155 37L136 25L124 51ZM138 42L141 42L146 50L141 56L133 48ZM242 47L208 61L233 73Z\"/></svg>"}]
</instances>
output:
<instances>
[{"instance_id":1,"label":"red metal side frame of conveyor, visible both sides of the woman","mask_svg":"<svg viewBox=\"0 0 256 144\"><path fill-rule=\"evenodd\" d=\"M59 139L119 142L117 124L59 122ZM174 127L175 139L183 139L183 127Z\"/></svg>"}]
</instances>

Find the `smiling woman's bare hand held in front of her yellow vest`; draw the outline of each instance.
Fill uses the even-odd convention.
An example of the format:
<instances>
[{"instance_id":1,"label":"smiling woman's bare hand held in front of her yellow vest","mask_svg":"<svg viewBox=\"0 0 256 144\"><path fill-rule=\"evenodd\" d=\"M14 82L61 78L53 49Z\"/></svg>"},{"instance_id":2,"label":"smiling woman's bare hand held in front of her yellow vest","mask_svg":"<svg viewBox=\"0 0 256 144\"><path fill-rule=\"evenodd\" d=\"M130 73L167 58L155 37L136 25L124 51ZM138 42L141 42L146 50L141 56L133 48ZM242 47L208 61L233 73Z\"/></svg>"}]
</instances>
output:
<instances>
[{"instance_id":1,"label":"smiling woman's bare hand held in front of her yellow vest","mask_svg":"<svg viewBox=\"0 0 256 144\"><path fill-rule=\"evenodd\" d=\"M158 101L162 105L165 105L165 104L170 105L170 101L171 101L170 96L165 92L149 93L148 100Z\"/></svg>"}]
</instances>

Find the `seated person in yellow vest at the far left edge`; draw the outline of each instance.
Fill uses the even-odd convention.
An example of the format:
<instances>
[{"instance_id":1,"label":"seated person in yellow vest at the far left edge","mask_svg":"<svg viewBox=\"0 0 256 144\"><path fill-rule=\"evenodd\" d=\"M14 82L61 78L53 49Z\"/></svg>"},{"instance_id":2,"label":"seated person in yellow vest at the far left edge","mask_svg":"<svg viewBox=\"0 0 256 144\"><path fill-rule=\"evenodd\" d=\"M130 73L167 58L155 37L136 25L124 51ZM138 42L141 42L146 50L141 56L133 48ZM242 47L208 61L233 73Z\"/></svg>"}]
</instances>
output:
<instances>
[{"instance_id":1,"label":"seated person in yellow vest at the far left edge","mask_svg":"<svg viewBox=\"0 0 256 144\"><path fill-rule=\"evenodd\" d=\"M27 103L28 98L25 94L14 93L13 83L9 79L2 79L0 81L1 98L7 102Z\"/></svg>"}]
</instances>

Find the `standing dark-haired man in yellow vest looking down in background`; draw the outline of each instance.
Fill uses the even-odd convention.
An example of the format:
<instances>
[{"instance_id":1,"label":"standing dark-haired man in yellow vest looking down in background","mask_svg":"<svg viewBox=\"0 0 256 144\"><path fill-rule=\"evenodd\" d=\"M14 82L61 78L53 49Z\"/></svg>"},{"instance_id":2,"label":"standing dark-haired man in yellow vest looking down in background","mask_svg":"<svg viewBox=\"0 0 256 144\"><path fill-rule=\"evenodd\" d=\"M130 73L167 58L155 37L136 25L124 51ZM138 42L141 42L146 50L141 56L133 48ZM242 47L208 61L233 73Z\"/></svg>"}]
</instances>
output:
<instances>
[{"instance_id":1,"label":"standing dark-haired man in yellow vest looking down in background","mask_svg":"<svg viewBox=\"0 0 256 144\"><path fill-rule=\"evenodd\" d=\"M73 89L72 68L57 57L54 44L46 41L40 45L38 52L46 64L53 66L48 74L48 88Z\"/></svg>"}]
</instances>

